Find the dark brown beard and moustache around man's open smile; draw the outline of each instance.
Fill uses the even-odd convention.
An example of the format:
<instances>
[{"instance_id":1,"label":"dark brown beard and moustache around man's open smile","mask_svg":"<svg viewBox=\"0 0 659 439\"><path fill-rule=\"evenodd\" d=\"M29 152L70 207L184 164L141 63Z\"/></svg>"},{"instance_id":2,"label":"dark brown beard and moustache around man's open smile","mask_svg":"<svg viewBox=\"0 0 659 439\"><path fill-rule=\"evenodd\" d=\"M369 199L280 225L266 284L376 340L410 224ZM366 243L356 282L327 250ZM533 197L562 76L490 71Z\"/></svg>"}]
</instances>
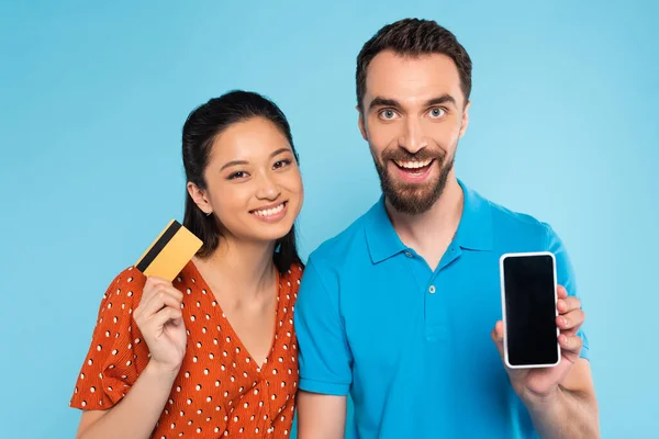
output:
<instances>
[{"instance_id":1,"label":"dark brown beard and moustache around man's open smile","mask_svg":"<svg viewBox=\"0 0 659 439\"><path fill-rule=\"evenodd\" d=\"M439 176L433 181L424 183L401 183L394 181L389 175L387 165L391 160L396 161L425 161L434 159L439 166ZM393 151L386 150L381 161L373 157L376 169L380 176L382 193L389 200L393 209L400 213L417 215L427 212L442 196L448 175L453 170L455 154L447 159L445 151L429 153L425 148L416 154L410 154L404 149L396 148ZM429 166L435 166L433 161ZM393 164L393 166L396 166Z\"/></svg>"}]
</instances>

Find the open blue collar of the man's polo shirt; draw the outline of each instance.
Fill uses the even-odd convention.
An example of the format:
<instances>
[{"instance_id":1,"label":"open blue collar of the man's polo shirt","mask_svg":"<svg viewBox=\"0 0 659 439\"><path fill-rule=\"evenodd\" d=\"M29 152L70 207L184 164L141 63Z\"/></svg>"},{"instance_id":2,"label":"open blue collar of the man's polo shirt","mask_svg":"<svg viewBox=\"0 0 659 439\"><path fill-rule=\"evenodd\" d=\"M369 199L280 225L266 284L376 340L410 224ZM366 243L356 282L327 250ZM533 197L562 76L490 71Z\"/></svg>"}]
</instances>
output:
<instances>
[{"instance_id":1,"label":"open blue collar of the man's polo shirt","mask_svg":"<svg viewBox=\"0 0 659 439\"><path fill-rule=\"evenodd\" d=\"M459 179L458 183L462 189L465 202L454 243L462 249L491 250L493 236L490 203ZM366 216L366 241L373 263L407 249L391 224L383 194Z\"/></svg>"}]
</instances>

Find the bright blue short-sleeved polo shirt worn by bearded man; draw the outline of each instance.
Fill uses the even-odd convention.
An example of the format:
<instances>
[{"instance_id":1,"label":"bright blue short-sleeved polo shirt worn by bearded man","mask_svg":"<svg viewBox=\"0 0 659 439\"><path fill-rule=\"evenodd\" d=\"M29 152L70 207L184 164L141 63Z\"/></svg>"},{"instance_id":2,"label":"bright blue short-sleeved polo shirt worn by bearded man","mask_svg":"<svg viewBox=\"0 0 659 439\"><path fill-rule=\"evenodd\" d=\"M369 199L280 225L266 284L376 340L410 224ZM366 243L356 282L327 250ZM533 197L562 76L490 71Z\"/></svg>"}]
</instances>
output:
<instances>
[{"instance_id":1,"label":"bright blue short-sleeved polo shirt worn by bearded man","mask_svg":"<svg viewBox=\"0 0 659 439\"><path fill-rule=\"evenodd\" d=\"M349 393L349 438L537 437L490 337L502 317L499 258L554 252L570 295L572 268L549 225L459 183L462 216L435 271L398 237L383 198L309 258L295 307L300 389Z\"/></svg>"}]
</instances>

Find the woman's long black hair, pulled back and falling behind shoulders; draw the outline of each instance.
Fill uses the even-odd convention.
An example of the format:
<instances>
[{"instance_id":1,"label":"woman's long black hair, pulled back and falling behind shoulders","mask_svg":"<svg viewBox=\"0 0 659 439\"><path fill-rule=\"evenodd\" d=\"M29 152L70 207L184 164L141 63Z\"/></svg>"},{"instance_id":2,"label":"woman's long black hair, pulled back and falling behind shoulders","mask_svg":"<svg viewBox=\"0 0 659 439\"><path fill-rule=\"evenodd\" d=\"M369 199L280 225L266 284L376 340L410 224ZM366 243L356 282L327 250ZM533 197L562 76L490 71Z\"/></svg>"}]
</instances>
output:
<instances>
[{"instance_id":1,"label":"woman's long black hair, pulled back and falling behind shoulders","mask_svg":"<svg viewBox=\"0 0 659 439\"><path fill-rule=\"evenodd\" d=\"M183 167L189 182L205 190L203 172L209 164L213 140L231 125L252 117L265 117L272 122L286 136L295 161L300 162L293 145L291 127L279 106L267 98L250 91L234 90L213 98L194 109L183 125ZM209 256L217 248L222 237L220 224L214 215L206 216L194 203L190 194L186 196L183 225L203 241L197 255ZM273 262L280 272L287 271L292 263L301 263L295 245L295 226L277 240Z\"/></svg>"}]
</instances>

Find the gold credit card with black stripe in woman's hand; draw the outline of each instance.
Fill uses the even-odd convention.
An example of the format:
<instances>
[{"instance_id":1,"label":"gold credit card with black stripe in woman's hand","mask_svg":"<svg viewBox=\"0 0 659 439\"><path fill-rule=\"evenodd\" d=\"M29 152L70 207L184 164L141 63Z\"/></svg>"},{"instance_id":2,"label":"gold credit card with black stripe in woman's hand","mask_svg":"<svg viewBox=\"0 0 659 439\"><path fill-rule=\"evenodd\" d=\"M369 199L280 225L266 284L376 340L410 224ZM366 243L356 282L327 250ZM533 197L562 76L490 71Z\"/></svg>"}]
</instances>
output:
<instances>
[{"instance_id":1,"label":"gold credit card with black stripe in woman's hand","mask_svg":"<svg viewBox=\"0 0 659 439\"><path fill-rule=\"evenodd\" d=\"M139 257L135 268L147 277L154 275L171 282L202 244L201 239L183 227L181 223L171 219Z\"/></svg>"}]
</instances>

